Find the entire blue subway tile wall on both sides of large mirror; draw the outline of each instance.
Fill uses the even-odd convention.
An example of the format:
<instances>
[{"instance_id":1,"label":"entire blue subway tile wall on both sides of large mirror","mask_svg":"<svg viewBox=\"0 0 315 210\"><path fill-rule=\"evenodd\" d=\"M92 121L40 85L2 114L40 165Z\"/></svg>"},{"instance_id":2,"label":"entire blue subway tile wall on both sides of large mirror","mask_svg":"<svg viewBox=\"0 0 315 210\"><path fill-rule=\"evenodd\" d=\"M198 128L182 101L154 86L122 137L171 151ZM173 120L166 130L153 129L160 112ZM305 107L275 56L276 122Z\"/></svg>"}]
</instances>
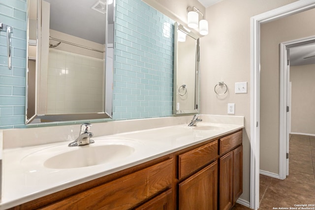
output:
<instances>
[{"instance_id":1,"label":"entire blue subway tile wall on both sides of large mirror","mask_svg":"<svg viewBox=\"0 0 315 210\"><path fill-rule=\"evenodd\" d=\"M116 3L113 117L171 116L174 21L141 0ZM11 70L0 33L0 129L81 123L25 126L27 0L0 0L0 22L14 29Z\"/></svg>"}]
</instances>

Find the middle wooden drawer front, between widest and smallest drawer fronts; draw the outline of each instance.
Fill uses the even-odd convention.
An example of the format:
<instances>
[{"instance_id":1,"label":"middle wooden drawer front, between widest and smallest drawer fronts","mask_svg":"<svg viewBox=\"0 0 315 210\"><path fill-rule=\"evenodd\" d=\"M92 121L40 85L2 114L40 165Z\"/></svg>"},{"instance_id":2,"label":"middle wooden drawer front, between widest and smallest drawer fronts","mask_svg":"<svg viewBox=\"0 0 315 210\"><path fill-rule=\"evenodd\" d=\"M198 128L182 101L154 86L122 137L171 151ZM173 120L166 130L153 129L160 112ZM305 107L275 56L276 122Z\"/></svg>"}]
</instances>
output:
<instances>
[{"instance_id":1,"label":"middle wooden drawer front, between widest and smallest drawer fronts","mask_svg":"<svg viewBox=\"0 0 315 210\"><path fill-rule=\"evenodd\" d=\"M218 158L218 141L211 142L178 156L178 179L182 179Z\"/></svg>"}]
</instances>

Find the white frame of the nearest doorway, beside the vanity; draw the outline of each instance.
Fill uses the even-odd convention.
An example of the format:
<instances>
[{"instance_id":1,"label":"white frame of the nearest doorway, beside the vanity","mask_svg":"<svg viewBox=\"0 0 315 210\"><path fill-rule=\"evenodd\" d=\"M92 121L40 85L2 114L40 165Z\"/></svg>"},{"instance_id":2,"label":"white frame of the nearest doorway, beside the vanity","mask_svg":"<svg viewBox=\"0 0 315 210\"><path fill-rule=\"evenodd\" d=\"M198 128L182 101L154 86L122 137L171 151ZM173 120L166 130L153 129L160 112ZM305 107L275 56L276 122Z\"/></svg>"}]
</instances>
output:
<instances>
[{"instance_id":1,"label":"white frame of the nearest doorway, beside the vanity","mask_svg":"<svg viewBox=\"0 0 315 210\"><path fill-rule=\"evenodd\" d=\"M315 0L298 0L251 18L251 209L259 208L260 24L315 8Z\"/></svg>"}]
</instances>

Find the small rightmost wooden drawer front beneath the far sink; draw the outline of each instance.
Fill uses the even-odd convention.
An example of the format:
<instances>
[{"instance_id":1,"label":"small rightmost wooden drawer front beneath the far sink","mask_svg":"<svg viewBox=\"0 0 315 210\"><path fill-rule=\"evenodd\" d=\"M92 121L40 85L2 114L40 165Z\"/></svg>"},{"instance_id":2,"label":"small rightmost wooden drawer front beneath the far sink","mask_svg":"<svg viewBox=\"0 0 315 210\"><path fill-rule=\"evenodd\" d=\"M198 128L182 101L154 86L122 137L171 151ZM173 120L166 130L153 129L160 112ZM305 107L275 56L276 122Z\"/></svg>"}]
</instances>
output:
<instances>
[{"instance_id":1,"label":"small rightmost wooden drawer front beneath the far sink","mask_svg":"<svg viewBox=\"0 0 315 210\"><path fill-rule=\"evenodd\" d=\"M243 131L238 131L220 139L220 155L242 144Z\"/></svg>"}]
</instances>

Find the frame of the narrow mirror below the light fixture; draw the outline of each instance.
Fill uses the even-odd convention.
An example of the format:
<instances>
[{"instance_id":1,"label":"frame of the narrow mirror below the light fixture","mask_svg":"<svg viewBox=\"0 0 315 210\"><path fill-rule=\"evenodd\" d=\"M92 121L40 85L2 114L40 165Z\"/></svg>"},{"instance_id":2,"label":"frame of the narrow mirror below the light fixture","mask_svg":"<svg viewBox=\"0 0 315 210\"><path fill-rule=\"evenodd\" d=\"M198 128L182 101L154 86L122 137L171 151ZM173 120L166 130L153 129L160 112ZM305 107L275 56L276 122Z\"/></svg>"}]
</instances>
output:
<instances>
[{"instance_id":1,"label":"frame of the narrow mirror below the light fixture","mask_svg":"<svg viewBox=\"0 0 315 210\"><path fill-rule=\"evenodd\" d=\"M195 55L195 104L194 109L191 110L177 110L176 109L176 97L177 97L177 75L180 72L178 69L178 62L179 59L177 58L178 52L178 30L186 33L188 36L192 37L196 40L196 55ZM191 30L187 30L186 27L182 26L181 24L175 22L174 24L174 86L173 86L173 114L174 115L181 115L181 114L198 114L199 113L199 61L200 61L200 47L199 47L199 36L193 33Z\"/></svg>"}]
</instances>

